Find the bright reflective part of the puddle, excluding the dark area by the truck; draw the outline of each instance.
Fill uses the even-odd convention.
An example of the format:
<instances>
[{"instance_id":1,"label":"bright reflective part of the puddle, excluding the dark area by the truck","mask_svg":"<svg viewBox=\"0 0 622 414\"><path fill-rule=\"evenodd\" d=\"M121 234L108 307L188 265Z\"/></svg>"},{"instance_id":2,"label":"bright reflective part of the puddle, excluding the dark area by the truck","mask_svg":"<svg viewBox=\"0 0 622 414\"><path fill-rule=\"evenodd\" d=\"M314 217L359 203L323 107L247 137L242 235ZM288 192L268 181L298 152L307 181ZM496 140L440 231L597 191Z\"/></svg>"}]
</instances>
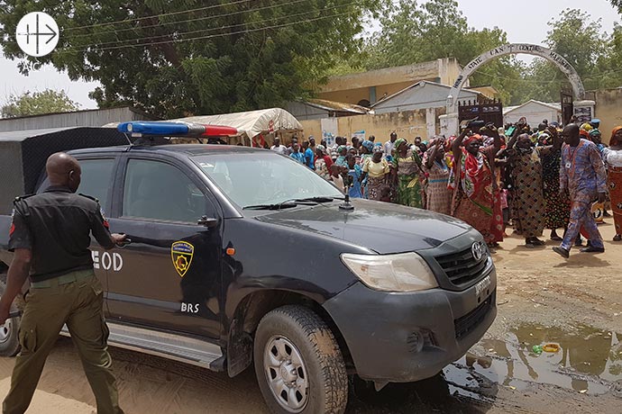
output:
<instances>
[{"instance_id":1,"label":"bright reflective part of the puddle, excluding the dark area by the truck","mask_svg":"<svg viewBox=\"0 0 622 414\"><path fill-rule=\"evenodd\" d=\"M445 377L460 377L461 365L504 386L526 389L529 383L547 383L593 395L608 392L605 382L622 380L619 334L579 325L571 331L523 324L511 329L506 341L482 340L486 357L467 354L445 368ZM533 347L557 344L560 351L537 355ZM467 384L462 382L462 385Z\"/></svg>"}]
</instances>

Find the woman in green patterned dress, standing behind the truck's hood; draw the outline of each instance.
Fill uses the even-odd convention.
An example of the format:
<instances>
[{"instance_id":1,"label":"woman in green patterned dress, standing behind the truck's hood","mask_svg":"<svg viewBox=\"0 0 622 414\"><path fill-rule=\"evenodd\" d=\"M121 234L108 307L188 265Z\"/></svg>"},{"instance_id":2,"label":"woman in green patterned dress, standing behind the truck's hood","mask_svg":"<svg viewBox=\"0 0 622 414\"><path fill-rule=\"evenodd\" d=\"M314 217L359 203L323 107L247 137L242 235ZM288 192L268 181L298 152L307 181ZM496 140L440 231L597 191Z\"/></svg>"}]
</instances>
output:
<instances>
[{"instance_id":1,"label":"woman in green patterned dress, standing behind the truck's hood","mask_svg":"<svg viewBox=\"0 0 622 414\"><path fill-rule=\"evenodd\" d=\"M401 205L423 208L421 176L424 174L421 158L408 148L406 139L395 141L393 157L393 182L396 183L396 202Z\"/></svg>"}]
</instances>

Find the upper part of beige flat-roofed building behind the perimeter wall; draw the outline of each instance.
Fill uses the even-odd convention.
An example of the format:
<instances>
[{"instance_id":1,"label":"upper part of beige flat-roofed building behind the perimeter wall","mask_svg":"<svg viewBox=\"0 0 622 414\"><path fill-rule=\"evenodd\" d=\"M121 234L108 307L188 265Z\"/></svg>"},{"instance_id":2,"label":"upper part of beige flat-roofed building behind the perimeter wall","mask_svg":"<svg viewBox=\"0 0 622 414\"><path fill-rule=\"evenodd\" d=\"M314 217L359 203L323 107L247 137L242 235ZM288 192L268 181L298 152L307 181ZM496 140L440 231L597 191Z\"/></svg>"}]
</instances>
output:
<instances>
[{"instance_id":1,"label":"upper part of beige flat-roofed building behind the perimeter wall","mask_svg":"<svg viewBox=\"0 0 622 414\"><path fill-rule=\"evenodd\" d=\"M416 65L333 76L326 85L319 86L317 97L369 107L419 81L453 85L461 69L455 58L439 58ZM468 82L465 87L469 86Z\"/></svg>"}]
</instances>

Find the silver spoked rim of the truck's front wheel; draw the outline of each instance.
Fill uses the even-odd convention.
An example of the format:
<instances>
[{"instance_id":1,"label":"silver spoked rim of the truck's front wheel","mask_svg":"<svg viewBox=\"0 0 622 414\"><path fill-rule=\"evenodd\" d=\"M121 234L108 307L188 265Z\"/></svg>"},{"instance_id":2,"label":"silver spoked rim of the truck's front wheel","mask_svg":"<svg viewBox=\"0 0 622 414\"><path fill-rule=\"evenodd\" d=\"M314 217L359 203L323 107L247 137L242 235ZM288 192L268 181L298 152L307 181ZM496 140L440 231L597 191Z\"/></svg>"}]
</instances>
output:
<instances>
[{"instance_id":1,"label":"silver spoked rim of the truck's front wheel","mask_svg":"<svg viewBox=\"0 0 622 414\"><path fill-rule=\"evenodd\" d=\"M270 392L279 405L288 412L304 410L309 382L297 347L288 338L270 338L263 353L263 367Z\"/></svg>"}]
</instances>

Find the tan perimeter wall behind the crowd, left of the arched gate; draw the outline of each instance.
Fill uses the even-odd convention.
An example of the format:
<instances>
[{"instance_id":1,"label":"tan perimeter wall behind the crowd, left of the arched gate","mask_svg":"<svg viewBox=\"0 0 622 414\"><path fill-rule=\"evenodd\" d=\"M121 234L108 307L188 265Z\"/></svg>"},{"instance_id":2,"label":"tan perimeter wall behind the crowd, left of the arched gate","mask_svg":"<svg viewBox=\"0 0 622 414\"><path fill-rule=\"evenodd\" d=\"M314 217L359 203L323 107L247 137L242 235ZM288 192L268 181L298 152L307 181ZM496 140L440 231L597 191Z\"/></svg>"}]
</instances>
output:
<instances>
[{"instance_id":1,"label":"tan perimeter wall behind the crowd, left of the arched gate","mask_svg":"<svg viewBox=\"0 0 622 414\"><path fill-rule=\"evenodd\" d=\"M365 137L370 135L376 137L376 142L386 142L389 140L389 134L393 131L397 132L399 138L405 138L408 142L413 142L415 137L423 139L431 138L439 130L438 117L444 114L444 108L433 108L428 110L426 122L426 110L389 112L376 115L354 115L337 118L338 134L348 139L352 138L352 134L358 130L365 130ZM434 120L434 121L431 121ZM434 128L434 134L428 134L428 125ZM300 121L304 128L303 136L316 137L322 136L322 126L320 120ZM432 130L430 130L432 132Z\"/></svg>"}]
</instances>

